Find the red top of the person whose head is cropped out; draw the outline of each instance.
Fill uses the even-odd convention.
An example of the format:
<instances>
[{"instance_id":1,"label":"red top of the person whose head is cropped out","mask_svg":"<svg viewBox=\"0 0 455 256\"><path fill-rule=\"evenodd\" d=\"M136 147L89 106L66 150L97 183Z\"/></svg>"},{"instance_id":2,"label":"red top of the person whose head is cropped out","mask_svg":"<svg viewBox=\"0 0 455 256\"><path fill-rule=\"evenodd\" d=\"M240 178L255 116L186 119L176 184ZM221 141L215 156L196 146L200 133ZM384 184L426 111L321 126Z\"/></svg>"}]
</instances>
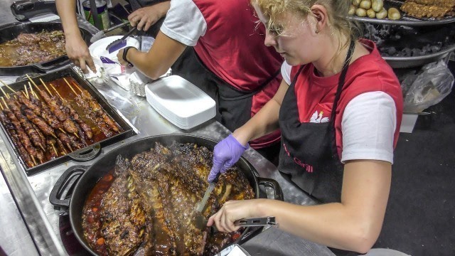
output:
<instances>
[{"instance_id":1,"label":"red top of the person whose head is cropped out","mask_svg":"<svg viewBox=\"0 0 455 256\"><path fill-rule=\"evenodd\" d=\"M194 49L205 66L237 90L255 91L276 73L283 58L264 45L265 28L248 0L193 0L207 23ZM226 15L232 14L232 15ZM233 15L235 14L235 16ZM281 76L253 97L253 116L277 92ZM279 140L279 132L250 142L260 148Z\"/></svg>"}]
</instances>

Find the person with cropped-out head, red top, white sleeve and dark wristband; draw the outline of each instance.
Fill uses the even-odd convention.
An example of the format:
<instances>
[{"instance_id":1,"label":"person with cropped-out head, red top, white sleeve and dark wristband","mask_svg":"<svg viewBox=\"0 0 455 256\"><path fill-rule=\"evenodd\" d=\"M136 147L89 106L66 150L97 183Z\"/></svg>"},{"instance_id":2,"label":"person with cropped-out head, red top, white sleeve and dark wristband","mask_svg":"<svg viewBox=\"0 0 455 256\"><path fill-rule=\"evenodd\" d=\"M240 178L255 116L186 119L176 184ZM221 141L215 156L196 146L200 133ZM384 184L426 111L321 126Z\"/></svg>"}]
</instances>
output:
<instances>
[{"instance_id":1,"label":"person with cropped-out head, red top, white sleeve and dark wristband","mask_svg":"<svg viewBox=\"0 0 455 256\"><path fill-rule=\"evenodd\" d=\"M130 22L139 20L132 16ZM282 80L283 58L264 46L264 27L255 21L248 0L173 0L150 50L127 47L117 57L152 79L171 68L212 97L215 119L234 131L273 97ZM273 161L279 140L275 129L250 146Z\"/></svg>"}]
</instances>

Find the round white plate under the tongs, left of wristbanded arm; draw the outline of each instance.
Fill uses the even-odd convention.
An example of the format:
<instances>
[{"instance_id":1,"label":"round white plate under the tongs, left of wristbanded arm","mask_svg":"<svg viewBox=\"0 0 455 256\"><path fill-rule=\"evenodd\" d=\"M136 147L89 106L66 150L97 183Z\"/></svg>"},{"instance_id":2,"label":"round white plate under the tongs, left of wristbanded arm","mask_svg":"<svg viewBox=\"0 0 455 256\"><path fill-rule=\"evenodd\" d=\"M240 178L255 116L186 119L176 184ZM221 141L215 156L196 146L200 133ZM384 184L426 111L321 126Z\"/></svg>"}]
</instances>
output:
<instances>
[{"instance_id":1,"label":"round white plate under the tongs, left of wristbanded arm","mask_svg":"<svg viewBox=\"0 0 455 256\"><path fill-rule=\"evenodd\" d=\"M109 43L112 43L113 41L122 38L122 36L108 36L106 38L101 38L100 40L96 41L95 43L92 43L92 45L89 46L88 50L90 50L90 55L92 55L93 60L95 60L95 63L98 65L102 65L100 61L100 57L107 57L111 60L114 60L117 62L117 53L119 53L119 50L115 50L112 53L109 53L108 50L106 50L106 47L109 45ZM127 46L134 46L139 49L139 41L136 38L129 37L127 38Z\"/></svg>"}]
</instances>

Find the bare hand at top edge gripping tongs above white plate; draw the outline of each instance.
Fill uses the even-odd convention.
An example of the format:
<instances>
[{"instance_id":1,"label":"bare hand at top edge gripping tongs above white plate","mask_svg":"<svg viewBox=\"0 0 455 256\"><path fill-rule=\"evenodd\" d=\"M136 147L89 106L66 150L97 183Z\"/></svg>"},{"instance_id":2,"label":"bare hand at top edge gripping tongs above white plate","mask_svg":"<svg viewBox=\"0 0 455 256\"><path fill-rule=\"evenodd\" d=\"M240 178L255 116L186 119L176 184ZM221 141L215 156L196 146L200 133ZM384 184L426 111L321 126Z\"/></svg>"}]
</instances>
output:
<instances>
[{"instance_id":1,"label":"bare hand at top edge gripping tongs above white plate","mask_svg":"<svg viewBox=\"0 0 455 256\"><path fill-rule=\"evenodd\" d=\"M137 26L138 31L143 29L148 31L156 21L163 17L161 13L162 11L159 10L157 5L146 6L129 14L128 21L131 26Z\"/></svg>"}]
</instances>

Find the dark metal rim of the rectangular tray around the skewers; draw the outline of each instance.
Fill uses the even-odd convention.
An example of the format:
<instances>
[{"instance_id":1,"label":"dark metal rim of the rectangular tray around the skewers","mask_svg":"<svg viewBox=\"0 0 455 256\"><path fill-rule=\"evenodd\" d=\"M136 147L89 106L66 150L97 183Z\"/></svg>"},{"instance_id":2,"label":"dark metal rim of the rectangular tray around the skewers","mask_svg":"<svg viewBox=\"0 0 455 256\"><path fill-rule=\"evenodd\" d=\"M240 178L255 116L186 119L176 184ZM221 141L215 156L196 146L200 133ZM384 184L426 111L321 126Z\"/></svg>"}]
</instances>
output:
<instances>
[{"instance_id":1,"label":"dark metal rim of the rectangular tray around the skewers","mask_svg":"<svg viewBox=\"0 0 455 256\"><path fill-rule=\"evenodd\" d=\"M80 85L83 89L87 90L90 92L90 95L97 100L98 103L100 103L101 107L107 114L109 114L112 119L114 119L117 124L119 124L119 127L123 129L123 132L119 132L118 134L114 134L112 137L109 137L107 139L103 139L100 142L95 142L94 144L90 144L88 146L85 146L82 149L77 149L73 152L70 152L68 154L65 154L64 156L58 156L58 158L46 161L43 164L38 164L37 166L33 166L31 168L28 168L26 164L24 163L23 159L21 158L21 155L18 152L18 149L16 149L16 146L14 146L14 143L11 140L11 137L9 136L9 133L6 132L5 127L3 124L0 125L1 131L6 134L6 137L8 138L9 145L14 151L15 156L18 158L19 162L21 163L23 169L26 171L26 174L28 176L37 174L40 171L44 171L45 169L50 169L53 166L57 166L58 164L63 164L66 161L74 160L74 161L89 161L91 159L94 159L98 154L100 154L102 146L108 146L111 144L114 144L116 142L122 141L124 139L127 139L129 137L134 136L137 134L137 129L132 127L129 122L127 122L124 117L122 117L122 114L118 110L116 110L112 105L109 105L109 103L105 100L105 98L98 92L95 87L82 78L79 74L73 70L73 68L68 67L65 68L64 70L58 70L52 73L46 73L45 75L38 75L31 77L33 81L35 81L39 85L39 79L41 78L44 82L49 82L56 80L58 78L64 78L70 76L71 78L75 79L77 84ZM40 82L41 83L41 82ZM13 84L9 85L13 90L19 91L23 90L23 85L28 84L28 80L20 80L18 82L14 82ZM5 88L5 87L4 87ZM7 90L6 88L4 90ZM79 113L80 114L80 113Z\"/></svg>"}]
</instances>

